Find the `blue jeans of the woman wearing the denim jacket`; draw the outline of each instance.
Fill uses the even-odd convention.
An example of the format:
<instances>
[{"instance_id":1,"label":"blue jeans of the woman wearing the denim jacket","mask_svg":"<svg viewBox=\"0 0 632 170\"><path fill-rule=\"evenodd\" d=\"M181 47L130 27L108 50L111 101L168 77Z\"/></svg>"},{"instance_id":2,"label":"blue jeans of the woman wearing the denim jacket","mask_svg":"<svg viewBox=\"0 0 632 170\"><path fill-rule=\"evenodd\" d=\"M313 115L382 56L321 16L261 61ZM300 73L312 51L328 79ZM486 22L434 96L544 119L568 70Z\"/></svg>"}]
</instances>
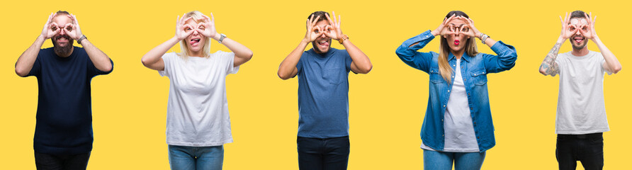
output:
<instances>
[{"instance_id":1,"label":"blue jeans of the woman wearing the denim jacket","mask_svg":"<svg viewBox=\"0 0 632 170\"><path fill-rule=\"evenodd\" d=\"M455 170L480 169L485 160L485 152L436 152L424 149L424 169Z\"/></svg>"}]
</instances>

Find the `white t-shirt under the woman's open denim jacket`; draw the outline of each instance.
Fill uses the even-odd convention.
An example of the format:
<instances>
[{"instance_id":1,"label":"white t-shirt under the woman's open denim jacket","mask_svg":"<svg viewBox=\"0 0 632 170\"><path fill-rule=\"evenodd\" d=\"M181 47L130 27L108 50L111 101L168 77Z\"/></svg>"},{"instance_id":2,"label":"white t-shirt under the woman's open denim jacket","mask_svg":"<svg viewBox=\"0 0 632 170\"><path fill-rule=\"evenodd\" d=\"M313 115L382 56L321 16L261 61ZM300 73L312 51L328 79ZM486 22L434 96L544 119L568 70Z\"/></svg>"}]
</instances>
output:
<instances>
[{"instance_id":1,"label":"white t-shirt under the woman's open denim jacket","mask_svg":"<svg viewBox=\"0 0 632 170\"><path fill-rule=\"evenodd\" d=\"M474 134L474 124L461 76L461 60L456 60L454 83L444 114L445 146L442 152L479 152ZM434 150L422 142L422 149Z\"/></svg>"}]
</instances>

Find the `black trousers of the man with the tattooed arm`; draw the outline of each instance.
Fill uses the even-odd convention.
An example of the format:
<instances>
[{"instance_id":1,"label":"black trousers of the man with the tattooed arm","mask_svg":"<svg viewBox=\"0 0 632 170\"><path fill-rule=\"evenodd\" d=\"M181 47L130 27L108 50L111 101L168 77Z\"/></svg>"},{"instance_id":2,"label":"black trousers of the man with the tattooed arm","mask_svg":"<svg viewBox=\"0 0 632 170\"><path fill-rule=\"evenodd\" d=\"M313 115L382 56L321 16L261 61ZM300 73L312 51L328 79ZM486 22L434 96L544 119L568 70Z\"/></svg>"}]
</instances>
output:
<instances>
[{"instance_id":1,"label":"black trousers of the man with the tattooed arm","mask_svg":"<svg viewBox=\"0 0 632 170\"><path fill-rule=\"evenodd\" d=\"M560 170L575 169L577 161L582 162L584 169L604 168L604 136L603 133L586 135L558 135L555 157Z\"/></svg>"}]
</instances>

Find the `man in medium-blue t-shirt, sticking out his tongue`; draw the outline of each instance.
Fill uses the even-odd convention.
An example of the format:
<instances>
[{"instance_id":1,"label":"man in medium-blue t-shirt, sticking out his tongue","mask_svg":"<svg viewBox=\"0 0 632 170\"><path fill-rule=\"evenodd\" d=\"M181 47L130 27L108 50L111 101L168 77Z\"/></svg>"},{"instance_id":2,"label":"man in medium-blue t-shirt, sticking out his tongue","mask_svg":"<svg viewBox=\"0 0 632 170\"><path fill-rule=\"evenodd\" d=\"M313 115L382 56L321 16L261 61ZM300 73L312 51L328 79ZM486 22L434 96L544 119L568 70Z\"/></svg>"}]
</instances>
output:
<instances>
[{"instance_id":1,"label":"man in medium-blue t-shirt, sticking out his tongue","mask_svg":"<svg viewBox=\"0 0 632 170\"><path fill-rule=\"evenodd\" d=\"M278 77L298 75L299 169L346 169L349 162L349 71L366 74L373 65L342 34L340 17L317 11L307 33L278 67ZM337 40L346 50L331 47ZM305 47L312 43L312 49Z\"/></svg>"}]
</instances>

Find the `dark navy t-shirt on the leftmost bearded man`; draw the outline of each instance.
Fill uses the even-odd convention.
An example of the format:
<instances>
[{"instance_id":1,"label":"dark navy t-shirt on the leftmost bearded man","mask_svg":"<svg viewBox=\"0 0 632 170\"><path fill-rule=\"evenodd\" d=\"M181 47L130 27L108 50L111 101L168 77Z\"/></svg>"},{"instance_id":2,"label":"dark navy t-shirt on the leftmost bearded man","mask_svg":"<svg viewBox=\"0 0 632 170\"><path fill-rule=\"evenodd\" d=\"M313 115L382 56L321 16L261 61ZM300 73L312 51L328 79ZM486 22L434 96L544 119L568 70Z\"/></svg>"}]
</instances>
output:
<instances>
[{"instance_id":1,"label":"dark navy t-shirt on the leftmost bearded man","mask_svg":"<svg viewBox=\"0 0 632 170\"><path fill-rule=\"evenodd\" d=\"M52 47L40 50L26 75L37 77L40 89L35 152L81 154L92 150L90 81L110 72L96 69L81 47L74 47L69 57L57 56Z\"/></svg>"}]
</instances>

